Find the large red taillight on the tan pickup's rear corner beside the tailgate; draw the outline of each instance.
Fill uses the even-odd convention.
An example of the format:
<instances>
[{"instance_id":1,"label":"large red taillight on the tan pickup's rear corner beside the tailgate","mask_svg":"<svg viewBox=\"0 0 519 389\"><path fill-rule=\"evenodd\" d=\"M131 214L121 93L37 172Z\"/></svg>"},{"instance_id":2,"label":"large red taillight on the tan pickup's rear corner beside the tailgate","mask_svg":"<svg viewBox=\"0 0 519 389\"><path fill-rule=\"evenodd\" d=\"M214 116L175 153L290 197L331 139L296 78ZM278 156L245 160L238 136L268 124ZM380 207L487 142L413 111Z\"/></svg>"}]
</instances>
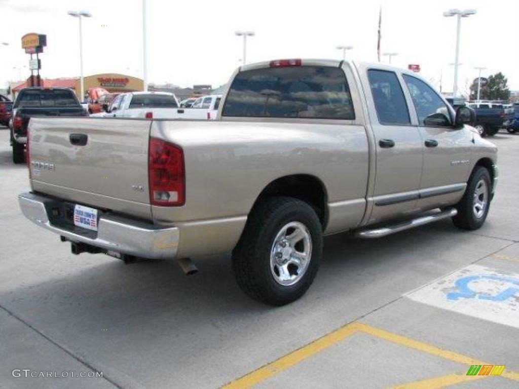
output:
<instances>
[{"instance_id":1,"label":"large red taillight on the tan pickup's rear corner beside the tailgate","mask_svg":"<svg viewBox=\"0 0 519 389\"><path fill-rule=\"evenodd\" d=\"M184 153L179 146L149 139L149 201L152 205L185 204Z\"/></svg>"}]
</instances>

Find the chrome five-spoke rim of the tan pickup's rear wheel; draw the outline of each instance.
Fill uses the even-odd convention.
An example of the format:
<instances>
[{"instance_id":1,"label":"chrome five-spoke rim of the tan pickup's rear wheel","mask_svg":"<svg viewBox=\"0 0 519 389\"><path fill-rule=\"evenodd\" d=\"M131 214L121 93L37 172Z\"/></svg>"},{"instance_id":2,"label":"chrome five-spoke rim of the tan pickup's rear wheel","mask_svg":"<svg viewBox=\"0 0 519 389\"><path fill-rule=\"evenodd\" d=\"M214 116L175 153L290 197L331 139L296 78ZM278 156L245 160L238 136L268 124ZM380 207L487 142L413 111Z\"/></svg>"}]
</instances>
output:
<instances>
[{"instance_id":1,"label":"chrome five-spoke rim of the tan pickup's rear wheel","mask_svg":"<svg viewBox=\"0 0 519 389\"><path fill-rule=\"evenodd\" d=\"M270 271L280 285L297 283L310 263L312 238L303 223L292 221L283 226L270 250Z\"/></svg>"}]
</instances>

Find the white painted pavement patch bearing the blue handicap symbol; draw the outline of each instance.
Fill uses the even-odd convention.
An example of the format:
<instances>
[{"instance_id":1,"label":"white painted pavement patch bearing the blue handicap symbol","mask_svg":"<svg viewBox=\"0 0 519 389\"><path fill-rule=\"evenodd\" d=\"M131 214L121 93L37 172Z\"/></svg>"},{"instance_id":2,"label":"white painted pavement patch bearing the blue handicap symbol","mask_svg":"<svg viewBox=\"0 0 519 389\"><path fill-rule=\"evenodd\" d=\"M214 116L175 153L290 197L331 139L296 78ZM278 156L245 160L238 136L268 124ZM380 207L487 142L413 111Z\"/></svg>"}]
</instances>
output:
<instances>
[{"instance_id":1,"label":"white painted pavement patch bearing the blue handicap symbol","mask_svg":"<svg viewBox=\"0 0 519 389\"><path fill-rule=\"evenodd\" d=\"M434 307L519 328L519 274L470 265L405 296Z\"/></svg>"}]
</instances>

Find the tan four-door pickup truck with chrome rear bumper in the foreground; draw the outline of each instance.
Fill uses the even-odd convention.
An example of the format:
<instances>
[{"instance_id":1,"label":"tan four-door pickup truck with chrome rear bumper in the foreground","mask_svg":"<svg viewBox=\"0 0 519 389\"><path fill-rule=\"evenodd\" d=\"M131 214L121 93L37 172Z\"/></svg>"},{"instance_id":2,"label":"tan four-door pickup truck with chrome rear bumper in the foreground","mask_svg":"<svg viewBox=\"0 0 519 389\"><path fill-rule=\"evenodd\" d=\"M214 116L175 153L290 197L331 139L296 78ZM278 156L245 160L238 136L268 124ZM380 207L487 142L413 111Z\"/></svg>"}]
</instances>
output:
<instances>
[{"instance_id":1,"label":"tan four-door pickup truck with chrome rear bumper in the foreground","mask_svg":"<svg viewBox=\"0 0 519 389\"><path fill-rule=\"evenodd\" d=\"M418 75L278 60L238 68L215 121L36 118L21 210L72 252L232 253L238 284L282 305L308 289L322 236L452 218L484 223L497 148Z\"/></svg>"}]
</instances>

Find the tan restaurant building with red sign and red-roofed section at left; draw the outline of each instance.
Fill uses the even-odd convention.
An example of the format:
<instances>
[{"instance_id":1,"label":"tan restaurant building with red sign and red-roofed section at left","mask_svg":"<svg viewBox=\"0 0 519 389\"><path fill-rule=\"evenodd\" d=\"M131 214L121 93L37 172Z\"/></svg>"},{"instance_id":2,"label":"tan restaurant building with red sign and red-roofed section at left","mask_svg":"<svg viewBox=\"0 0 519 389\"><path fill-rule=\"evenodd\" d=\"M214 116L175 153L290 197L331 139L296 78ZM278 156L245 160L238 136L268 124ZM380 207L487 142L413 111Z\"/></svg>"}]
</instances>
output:
<instances>
[{"instance_id":1,"label":"tan restaurant building with red sign and red-roofed section at left","mask_svg":"<svg viewBox=\"0 0 519 389\"><path fill-rule=\"evenodd\" d=\"M124 92L137 92L144 90L144 81L140 78L127 76L125 74L117 73L103 73L86 76L83 79L85 85L85 92L90 88L104 88L111 93L124 93ZM18 85L12 86L12 92L15 97L22 88L27 87L27 81L22 82ZM42 87L44 88L70 88L72 89L79 100L82 100L79 96L81 86L80 78L54 78L54 79L42 79Z\"/></svg>"}]
</instances>

